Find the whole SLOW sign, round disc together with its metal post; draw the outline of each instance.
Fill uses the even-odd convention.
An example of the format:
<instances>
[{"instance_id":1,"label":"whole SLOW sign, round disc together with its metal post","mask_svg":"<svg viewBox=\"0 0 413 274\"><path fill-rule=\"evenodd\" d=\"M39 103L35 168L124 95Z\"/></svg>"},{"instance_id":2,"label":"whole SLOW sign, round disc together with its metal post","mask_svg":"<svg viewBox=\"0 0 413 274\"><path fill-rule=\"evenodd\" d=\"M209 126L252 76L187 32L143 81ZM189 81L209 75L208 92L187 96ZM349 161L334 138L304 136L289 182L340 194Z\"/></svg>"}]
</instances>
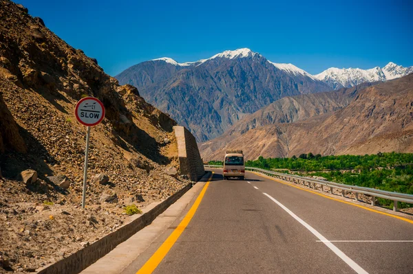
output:
<instances>
[{"instance_id":1,"label":"whole SLOW sign, round disc together with its metal post","mask_svg":"<svg viewBox=\"0 0 413 274\"><path fill-rule=\"evenodd\" d=\"M105 117L105 106L102 102L93 97L83 98L76 104L74 115L78 122L87 126L86 134L86 148L85 148L85 167L83 170L83 194L82 194L82 208L85 208L86 204L86 182L87 182L87 160L89 157L89 137L90 127L96 126L102 122Z\"/></svg>"}]
</instances>

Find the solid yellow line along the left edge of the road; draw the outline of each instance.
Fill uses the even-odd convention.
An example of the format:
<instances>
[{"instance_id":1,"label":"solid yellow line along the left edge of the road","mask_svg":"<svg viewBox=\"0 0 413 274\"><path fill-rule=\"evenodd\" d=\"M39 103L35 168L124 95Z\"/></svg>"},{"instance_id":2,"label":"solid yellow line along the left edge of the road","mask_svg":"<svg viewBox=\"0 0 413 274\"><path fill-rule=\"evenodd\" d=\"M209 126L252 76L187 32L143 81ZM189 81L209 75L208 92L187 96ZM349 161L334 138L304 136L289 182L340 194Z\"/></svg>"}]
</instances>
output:
<instances>
[{"instance_id":1,"label":"solid yellow line along the left edge of the road","mask_svg":"<svg viewBox=\"0 0 413 274\"><path fill-rule=\"evenodd\" d=\"M175 244L176 240L178 240L182 232L185 230L185 228L187 228L187 225L189 224L193 215L195 214L196 209L198 209L198 206L200 205L202 198L204 198L204 194L207 191L207 188L208 188L209 182L212 179L212 176L213 176L213 172L211 176L209 177L207 183L202 188L200 195L198 196L198 198L196 198L195 203L193 203L191 209L189 209L189 212L184 217L184 219L180 222L178 227L176 227L176 229L171 233L171 235L169 235L167 240L165 240L165 242L159 247L159 249L155 253L153 253L151 258L149 258L149 260L142 266L141 269L139 269L138 272L136 272L136 274L152 273L156 269L158 264L160 264L160 262L163 260L163 258L165 258L165 255L167 255L167 253L169 252L169 249L173 247L173 244Z\"/></svg>"}]
</instances>

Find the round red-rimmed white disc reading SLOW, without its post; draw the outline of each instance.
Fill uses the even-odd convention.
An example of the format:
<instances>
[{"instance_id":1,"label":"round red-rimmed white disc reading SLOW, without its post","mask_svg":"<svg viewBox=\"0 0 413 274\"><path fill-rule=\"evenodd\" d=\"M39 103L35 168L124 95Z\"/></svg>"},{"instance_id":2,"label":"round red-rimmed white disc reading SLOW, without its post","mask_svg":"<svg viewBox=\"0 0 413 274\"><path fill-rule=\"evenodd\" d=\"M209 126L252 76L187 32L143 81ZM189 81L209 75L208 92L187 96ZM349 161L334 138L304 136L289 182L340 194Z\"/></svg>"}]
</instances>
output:
<instances>
[{"instance_id":1,"label":"round red-rimmed white disc reading SLOW, without its post","mask_svg":"<svg viewBox=\"0 0 413 274\"><path fill-rule=\"evenodd\" d=\"M105 106L94 97L86 97L76 104L74 115L85 126L96 126L105 117Z\"/></svg>"}]
</instances>

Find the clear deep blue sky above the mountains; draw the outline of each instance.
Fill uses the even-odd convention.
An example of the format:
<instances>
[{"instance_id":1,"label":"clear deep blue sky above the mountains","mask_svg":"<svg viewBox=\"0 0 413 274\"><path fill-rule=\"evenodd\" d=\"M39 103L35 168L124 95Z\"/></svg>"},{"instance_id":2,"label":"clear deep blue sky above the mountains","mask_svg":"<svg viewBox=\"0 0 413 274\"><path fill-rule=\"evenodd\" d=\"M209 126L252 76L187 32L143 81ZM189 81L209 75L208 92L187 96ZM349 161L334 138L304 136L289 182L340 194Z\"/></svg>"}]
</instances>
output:
<instances>
[{"instance_id":1,"label":"clear deep blue sky above the mountains","mask_svg":"<svg viewBox=\"0 0 413 274\"><path fill-rule=\"evenodd\" d=\"M407 1L19 0L115 76L153 58L178 62L248 47L309 73L413 65Z\"/></svg>"}]
</instances>

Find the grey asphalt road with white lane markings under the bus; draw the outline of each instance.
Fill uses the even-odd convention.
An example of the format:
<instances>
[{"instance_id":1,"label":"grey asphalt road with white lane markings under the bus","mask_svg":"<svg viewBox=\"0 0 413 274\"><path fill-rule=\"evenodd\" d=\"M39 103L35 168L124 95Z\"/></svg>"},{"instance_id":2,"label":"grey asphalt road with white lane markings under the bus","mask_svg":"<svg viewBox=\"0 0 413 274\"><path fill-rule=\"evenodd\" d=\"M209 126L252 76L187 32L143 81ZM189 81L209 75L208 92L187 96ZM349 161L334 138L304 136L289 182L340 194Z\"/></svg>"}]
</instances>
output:
<instances>
[{"instance_id":1,"label":"grey asphalt road with white lane markings under the bus","mask_svg":"<svg viewBox=\"0 0 413 274\"><path fill-rule=\"evenodd\" d=\"M153 273L413 273L412 222L252 172L224 181L213 171L182 233L198 195L123 273L150 264Z\"/></svg>"}]
</instances>

